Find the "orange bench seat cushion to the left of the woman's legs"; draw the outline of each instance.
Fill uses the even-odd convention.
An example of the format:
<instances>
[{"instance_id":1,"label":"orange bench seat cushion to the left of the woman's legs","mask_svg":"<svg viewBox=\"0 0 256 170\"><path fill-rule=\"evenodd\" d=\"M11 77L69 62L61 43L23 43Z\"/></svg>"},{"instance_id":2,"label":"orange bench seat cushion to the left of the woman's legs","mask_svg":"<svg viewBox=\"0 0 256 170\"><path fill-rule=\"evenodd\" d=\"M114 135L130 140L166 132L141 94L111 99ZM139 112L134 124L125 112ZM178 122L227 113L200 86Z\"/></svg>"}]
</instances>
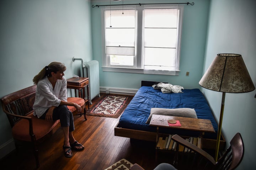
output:
<instances>
[{"instance_id":1,"label":"orange bench seat cushion to the left of the woman's legs","mask_svg":"<svg viewBox=\"0 0 256 170\"><path fill-rule=\"evenodd\" d=\"M33 124L33 132L36 137L36 140L42 138L47 135L58 123L59 120L56 121L46 121L43 119L39 119L33 114L28 115L32 117ZM14 127L12 127L12 135L15 139L21 141L31 141L31 136L29 134L29 122L26 119L22 119L18 121Z\"/></svg>"}]
</instances>

